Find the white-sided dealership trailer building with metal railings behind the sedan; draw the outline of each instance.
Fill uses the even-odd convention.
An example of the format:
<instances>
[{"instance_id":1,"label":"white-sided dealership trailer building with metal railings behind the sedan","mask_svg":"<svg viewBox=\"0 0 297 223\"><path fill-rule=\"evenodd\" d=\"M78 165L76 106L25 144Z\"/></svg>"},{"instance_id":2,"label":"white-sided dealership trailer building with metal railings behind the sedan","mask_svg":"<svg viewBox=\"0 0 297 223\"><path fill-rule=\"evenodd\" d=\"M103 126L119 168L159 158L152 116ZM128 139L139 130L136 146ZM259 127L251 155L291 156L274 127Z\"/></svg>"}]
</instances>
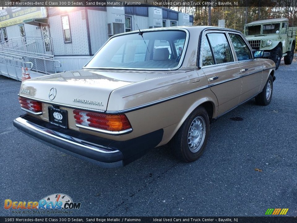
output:
<instances>
[{"instance_id":1,"label":"white-sided dealership trailer building with metal railings behind the sedan","mask_svg":"<svg viewBox=\"0 0 297 223\"><path fill-rule=\"evenodd\" d=\"M0 21L0 74L20 79L19 67L45 74L80 69L114 34L191 26L193 16L150 5L8 7Z\"/></svg>"}]
</instances>

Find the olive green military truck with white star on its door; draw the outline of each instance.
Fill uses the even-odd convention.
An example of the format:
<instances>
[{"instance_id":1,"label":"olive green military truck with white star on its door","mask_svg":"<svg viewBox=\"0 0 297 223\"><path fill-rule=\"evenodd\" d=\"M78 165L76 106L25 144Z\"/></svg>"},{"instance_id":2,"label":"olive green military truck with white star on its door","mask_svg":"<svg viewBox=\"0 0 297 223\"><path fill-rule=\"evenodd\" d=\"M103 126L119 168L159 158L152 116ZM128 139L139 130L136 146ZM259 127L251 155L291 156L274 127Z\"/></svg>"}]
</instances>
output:
<instances>
[{"instance_id":1,"label":"olive green military truck with white star on its door","mask_svg":"<svg viewBox=\"0 0 297 223\"><path fill-rule=\"evenodd\" d=\"M269 59L278 69L282 57L291 64L294 57L297 27L289 27L288 19L259 20L244 25L244 35L255 50L270 52Z\"/></svg>"}]
</instances>

